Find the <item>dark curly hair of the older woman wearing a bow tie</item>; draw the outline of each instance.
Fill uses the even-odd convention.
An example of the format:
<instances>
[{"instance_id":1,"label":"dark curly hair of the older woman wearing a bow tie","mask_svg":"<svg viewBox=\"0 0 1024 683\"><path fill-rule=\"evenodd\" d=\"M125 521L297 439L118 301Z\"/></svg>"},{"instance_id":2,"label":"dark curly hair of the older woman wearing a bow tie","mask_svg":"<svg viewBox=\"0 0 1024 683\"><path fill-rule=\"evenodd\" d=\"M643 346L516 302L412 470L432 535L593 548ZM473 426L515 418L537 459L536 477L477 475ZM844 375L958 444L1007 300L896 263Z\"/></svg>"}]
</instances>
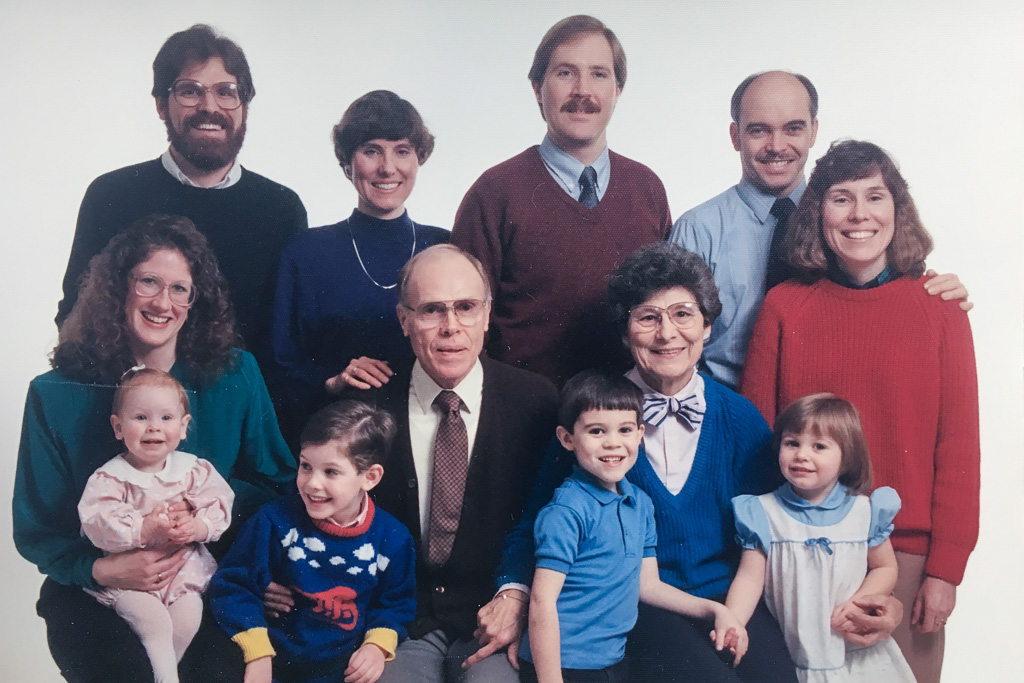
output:
<instances>
[{"instance_id":1,"label":"dark curly hair of the older woman wearing a bow tie","mask_svg":"<svg viewBox=\"0 0 1024 683\"><path fill-rule=\"evenodd\" d=\"M608 280L608 307L625 336L630 311L663 290L683 287L693 295L710 327L722 313L711 268L699 256L679 245L655 242L626 257Z\"/></svg>"}]
</instances>

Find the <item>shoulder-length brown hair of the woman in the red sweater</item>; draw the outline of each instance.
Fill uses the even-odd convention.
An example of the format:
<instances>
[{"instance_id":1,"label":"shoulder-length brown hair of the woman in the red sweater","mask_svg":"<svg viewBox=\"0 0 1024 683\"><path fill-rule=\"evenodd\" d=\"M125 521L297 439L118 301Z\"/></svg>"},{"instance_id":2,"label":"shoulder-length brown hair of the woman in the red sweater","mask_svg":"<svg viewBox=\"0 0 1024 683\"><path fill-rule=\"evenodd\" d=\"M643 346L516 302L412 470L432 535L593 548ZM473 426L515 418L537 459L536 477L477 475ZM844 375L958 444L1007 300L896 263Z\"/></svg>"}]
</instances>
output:
<instances>
[{"instance_id":1,"label":"shoulder-length brown hair of the woman in the red sweater","mask_svg":"<svg viewBox=\"0 0 1024 683\"><path fill-rule=\"evenodd\" d=\"M828 259L835 258L825 242L822 214L825 195L840 182L860 180L881 173L893 197L896 220L887 264L900 274L918 278L925 272L925 257L932 251L932 237L921 223L906 180L885 150L861 140L838 140L814 165L807 189L790 218L783 240L784 260L808 281L823 278Z\"/></svg>"}]
</instances>

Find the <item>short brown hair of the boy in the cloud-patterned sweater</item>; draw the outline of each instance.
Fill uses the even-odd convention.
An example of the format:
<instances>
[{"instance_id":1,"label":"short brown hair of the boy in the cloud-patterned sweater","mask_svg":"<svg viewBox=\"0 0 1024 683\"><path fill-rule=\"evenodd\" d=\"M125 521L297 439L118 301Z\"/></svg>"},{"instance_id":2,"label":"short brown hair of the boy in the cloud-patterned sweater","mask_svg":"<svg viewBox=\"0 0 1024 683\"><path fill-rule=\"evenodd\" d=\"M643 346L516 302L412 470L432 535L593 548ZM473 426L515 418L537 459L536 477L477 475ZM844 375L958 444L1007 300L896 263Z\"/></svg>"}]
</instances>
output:
<instances>
[{"instance_id":1,"label":"short brown hair of the boy in the cloud-patterned sweater","mask_svg":"<svg viewBox=\"0 0 1024 683\"><path fill-rule=\"evenodd\" d=\"M358 400L339 400L309 418L299 442L307 446L338 441L356 471L366 472L384 461L396 429L387 411Z\"/></svg>"}]
</instances>

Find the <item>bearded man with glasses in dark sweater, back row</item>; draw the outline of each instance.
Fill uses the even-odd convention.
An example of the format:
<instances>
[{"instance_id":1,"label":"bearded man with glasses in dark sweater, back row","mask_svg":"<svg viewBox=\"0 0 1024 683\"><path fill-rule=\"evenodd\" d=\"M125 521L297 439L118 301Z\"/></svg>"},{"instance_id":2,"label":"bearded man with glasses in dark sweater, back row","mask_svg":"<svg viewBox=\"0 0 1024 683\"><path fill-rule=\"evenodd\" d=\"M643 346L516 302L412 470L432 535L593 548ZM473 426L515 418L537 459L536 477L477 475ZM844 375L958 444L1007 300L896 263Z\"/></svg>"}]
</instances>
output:
<instances>
[{"instance_id":1,"label":"bearded man with glasses in dark sweater, back row","mask_svg":"<svg viewBox=\"0 0 1024 683\"><path fill-rule=\"evenodd\" d=\"M306 227L306 211L294 191L238 163L256 94L246 55L210 27L196 25L167 39L153 77L170 146L159 159L89 185L56 323L71 312L89 259L112 237L147 214L182 215L209 241L246 348L265 366L278 260L285 242Z\"/></svg>"}]
</instances>

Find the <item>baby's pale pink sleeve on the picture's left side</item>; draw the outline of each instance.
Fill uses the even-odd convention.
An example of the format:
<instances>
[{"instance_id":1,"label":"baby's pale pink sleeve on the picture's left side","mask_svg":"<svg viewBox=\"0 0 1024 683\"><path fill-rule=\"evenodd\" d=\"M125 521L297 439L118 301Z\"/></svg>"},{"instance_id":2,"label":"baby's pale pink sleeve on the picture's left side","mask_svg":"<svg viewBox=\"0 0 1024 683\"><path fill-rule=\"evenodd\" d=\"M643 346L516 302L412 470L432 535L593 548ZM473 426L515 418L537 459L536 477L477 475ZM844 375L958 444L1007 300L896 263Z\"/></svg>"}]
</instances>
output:
<instances>
[{"instance_id":1,"label":"baby's pale pink sleeve on the picture's left side","mask_svg":"<svg viewBox=\"0 0 1024 683\"><path fill-rule=\"evenodd\" d=\"M96 548L120 553L142 547L142 514L126 502L123 482L95 472L78 503L82 532Z\"/></svg>"}]
</instances>

